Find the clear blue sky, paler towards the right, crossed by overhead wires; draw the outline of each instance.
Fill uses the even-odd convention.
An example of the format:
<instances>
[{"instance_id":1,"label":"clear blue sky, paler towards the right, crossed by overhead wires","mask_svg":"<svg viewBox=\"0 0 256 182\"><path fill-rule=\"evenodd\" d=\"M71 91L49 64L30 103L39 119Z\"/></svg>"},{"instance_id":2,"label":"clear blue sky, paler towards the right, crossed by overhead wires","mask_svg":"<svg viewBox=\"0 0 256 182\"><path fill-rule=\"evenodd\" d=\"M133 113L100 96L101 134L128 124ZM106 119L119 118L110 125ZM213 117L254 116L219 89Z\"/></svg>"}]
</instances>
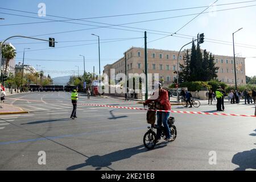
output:
<instances>
[{"instance_id":1,"label":"clear blue sky, paler towards the right, crossed by overhead wires","mask_svg":"<svg viewBox=\"0 0 256 182\"><path fill-rule=\"evenodd\" d=\"M16 64L22 62L24 48L30 48L25 51L24 64L42 69L51 77L77 75L78 71L81 75L84 71L84 62L83 57L79 55L85 56L86 72L93 72L94 66L95 72L98 73L98 38L91 34L100 36L102 73L104 65L120 59L130 47L144 47L144 31L147 31L148 48L179 51L184 44L191 42L193 36L204 33L205 42L201 44L202 49L207 49L216 55L233 56L232 33L241 27L242 30L234 34L235 52L246 57L246 75L256 75L256 1L0 0L0 2L0 18L4 18L0 19L1 41L10 36L23 35L47 40L55 38L58 42L55 43L55 48L51 48L48 47L48 42L40 40L19 38L8 41L16 48ZM44 7L41 6L42 3L46 11L42 11ZM224 5L229 3L235 4ZM206 6L212 4L217 6L205 10ZM197 8L189 9L191 7ZM162 12L147 13L152 11ZM202 11L206 13L198 15ZM42 13L46 13L46 16L39 16ZM113 16L124 14L126 15ZM67 18L82 20L67 21ZM66 21L53 22L54 20ZM113 26L117 24L123 25ZM174 32L176 32L174 36L163 38ZM152 40L155 41L151 42ZM191 45L185 48L191 48Z\"/></svg>"}]
</instances>

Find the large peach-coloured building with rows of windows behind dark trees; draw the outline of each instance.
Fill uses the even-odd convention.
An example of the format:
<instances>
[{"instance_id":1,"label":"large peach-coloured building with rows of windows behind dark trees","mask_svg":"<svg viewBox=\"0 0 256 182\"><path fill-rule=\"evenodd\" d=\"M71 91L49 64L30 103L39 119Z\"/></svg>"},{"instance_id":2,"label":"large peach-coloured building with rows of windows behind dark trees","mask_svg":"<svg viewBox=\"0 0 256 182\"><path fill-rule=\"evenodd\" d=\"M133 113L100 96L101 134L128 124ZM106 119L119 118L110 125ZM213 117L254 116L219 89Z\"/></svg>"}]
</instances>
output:
<instances>
[{"instance_id":1,"label":"large peach-coloured building with rows of windows behind dark trees","mask_svg":"<svg viewBox=\"0 0 256 182\"><path fill-rule=\"evenodd\" d=\"M182 57L186 50L180 52L179 63L183 64ZM203 50L202 50L203 51ZM158 73L159 81L162 79L164 85L170 85L176 80L177 56L179 51L168 51L162 49L147 49L147 72ZM218 80L226 84L233 85L234 81L234 61L233 56L214 55L216 67L219 67L217 75ZM110 69L115 69L115 75L125 73L125 56L115 61L113 64L107 64L104 72L110 78ZM144 70L144 48L131 47L126 51L126 70L129 73L143 73ZM179 71L180 68L179 68ZM236 57L237 84L246 84L245 79L245 57ZM153 78L154 80L154 75Z\"/></svg>"}]
</instances>

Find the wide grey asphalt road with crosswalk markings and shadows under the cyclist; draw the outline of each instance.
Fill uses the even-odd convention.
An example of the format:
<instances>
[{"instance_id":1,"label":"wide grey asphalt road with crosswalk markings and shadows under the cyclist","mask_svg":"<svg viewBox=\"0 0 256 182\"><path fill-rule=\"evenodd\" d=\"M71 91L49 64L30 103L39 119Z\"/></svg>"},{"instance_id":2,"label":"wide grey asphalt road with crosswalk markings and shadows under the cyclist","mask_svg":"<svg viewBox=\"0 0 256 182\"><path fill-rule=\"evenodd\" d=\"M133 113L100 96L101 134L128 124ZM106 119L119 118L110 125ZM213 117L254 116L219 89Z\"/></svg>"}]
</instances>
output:
<instances>
[{"instance_id":1,"label":"wide grey asphalt road with crosswalk markings and shadows under the cyclist","mask_svg":"<svg viewBox=\"0 0 256 182\"><path fill-rule=\"evenodd\" d=\"M70 94L10 96L45 103L6 100L30 113L1 115L0 170L256 169L256 118L174 113L176 140L161 140L154 150L147 150L146 111L79 105L78 118L72 120ZM87 100L84 94L79 103L142 107L116 98ZM224 113L253 115L254 107L226 104ZM202 101L199 108L172 109L214 112L216 106ZM44 162L40 151L46 154L46 164L39 164Z\"/></svg>"}]
</instances>

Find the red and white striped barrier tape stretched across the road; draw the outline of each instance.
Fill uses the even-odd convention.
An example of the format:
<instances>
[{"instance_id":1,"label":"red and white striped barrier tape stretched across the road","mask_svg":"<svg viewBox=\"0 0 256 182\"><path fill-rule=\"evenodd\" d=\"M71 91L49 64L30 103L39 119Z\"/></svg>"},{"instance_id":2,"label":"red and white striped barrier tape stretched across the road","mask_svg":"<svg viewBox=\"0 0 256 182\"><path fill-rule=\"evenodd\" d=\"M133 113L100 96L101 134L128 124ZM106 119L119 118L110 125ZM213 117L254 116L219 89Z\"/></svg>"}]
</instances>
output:
<instances>
[{"instance_id":1,"label":"red and white striped barrier tape stretched across the road","mask_svg":"<svg viewBox=\"0 0 256 182\"><path fill-rule=\"evenodd\" d=\"M164 112L183 113L183 114L232 115L232 116L242 116L242 117L256 117L256 115L246 115L246 114L204 113L204 112L195 112L195 111L176 111L176 110L154 110L154 109L144 109L139 107L110 106L110 105L100 105L100 104L78 104L78 105L112 107L117 109L164 111Z\"/></svg>"}]
</instances>

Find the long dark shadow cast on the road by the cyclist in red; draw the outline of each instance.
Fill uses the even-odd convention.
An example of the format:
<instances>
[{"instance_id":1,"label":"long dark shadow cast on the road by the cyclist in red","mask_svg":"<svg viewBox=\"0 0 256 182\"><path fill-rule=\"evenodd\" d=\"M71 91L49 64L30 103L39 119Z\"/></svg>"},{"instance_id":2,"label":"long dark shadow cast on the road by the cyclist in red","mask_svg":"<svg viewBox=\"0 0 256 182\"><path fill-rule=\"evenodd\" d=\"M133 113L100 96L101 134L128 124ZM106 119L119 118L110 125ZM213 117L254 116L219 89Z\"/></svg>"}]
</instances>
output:
<instances>
[{"instance_id":1,"label":"long dark shadow cast on the road by the cyclist in red","mask_svg":"<svg viewBox=\"0 0 256 182\"><path fill-rule=\"evenodd\" d=\"M166 145L162 145L162 147L164 146ZM123 159L128 159L128 158L131 158L131 156L133 155L136 155L142 152L147 152L147 151L149 150L147 150L143 145L140 145L137 147L126 148L123 150L111 152L109 154L102 155L102 156L94 155L86 159L85 163L76 164L74 166L68 167L67 170L68 171L75 170L85 166L92 166L92 167L95 167L96 170L100 170L102 167L110 166L113 162L117 162Z\"/></svg>"}]
</instances>

